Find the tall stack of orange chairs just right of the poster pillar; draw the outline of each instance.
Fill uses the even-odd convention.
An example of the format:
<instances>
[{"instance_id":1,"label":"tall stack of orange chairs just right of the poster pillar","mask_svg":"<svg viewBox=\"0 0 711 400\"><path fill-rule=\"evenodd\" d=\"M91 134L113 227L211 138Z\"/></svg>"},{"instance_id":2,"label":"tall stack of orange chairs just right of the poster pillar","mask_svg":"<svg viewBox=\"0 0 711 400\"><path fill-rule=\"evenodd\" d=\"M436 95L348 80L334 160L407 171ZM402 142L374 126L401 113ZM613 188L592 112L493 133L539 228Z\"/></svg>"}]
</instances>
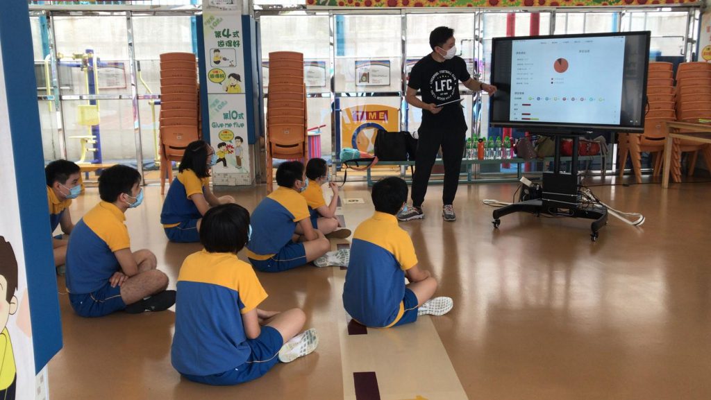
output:
<instances>
[{"instance_id":1,"label":"tall stack of orange chairs just right of the poster pillar","mask_svg":"<svg viewBox=\"0 0 711 400\"><path fill-rule=\"evenodd\" d=\"M267 190L272 191L272 159L307 158L304 55L269 53L267 95Z\"/></svg>"}]
</instances>

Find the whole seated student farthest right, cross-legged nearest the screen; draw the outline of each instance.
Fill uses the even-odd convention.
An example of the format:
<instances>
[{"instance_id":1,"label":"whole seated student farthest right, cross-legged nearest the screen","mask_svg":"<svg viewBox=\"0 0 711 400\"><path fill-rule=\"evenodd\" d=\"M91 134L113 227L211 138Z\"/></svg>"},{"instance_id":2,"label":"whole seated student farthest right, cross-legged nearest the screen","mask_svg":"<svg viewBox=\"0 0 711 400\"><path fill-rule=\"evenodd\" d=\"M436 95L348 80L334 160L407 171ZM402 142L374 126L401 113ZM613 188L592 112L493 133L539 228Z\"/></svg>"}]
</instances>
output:
<instances>
[{"instance_id":1,"label":"whole seated student farthest right, cross-legged nearest the screen","mask_svg":"<svg viewBox=\"0 0 711 400\"><path fill-rule=\"evenodd\" d=\"M373 185L375 214L353 234L351 262L343 285L343 306L359 323L390 328L412 323L417 315L443 315L449 297L432 298L437 281L419 269L410 235L397 225L407 201L407 183L397 177ZM405 285L405 277L410 284ZM430 300L430 298L432 298Z\"/></svg>"}]
</instances>

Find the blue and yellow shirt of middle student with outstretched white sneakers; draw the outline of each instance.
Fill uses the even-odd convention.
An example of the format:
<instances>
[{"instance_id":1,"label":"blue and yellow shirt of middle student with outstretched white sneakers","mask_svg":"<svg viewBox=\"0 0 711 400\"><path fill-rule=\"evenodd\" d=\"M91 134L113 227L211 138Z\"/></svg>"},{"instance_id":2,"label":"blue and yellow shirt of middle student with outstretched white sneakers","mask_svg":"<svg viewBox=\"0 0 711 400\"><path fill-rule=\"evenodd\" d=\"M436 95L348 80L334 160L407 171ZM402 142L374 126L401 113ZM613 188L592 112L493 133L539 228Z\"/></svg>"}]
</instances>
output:
<instances>
[{"instance_id":1,"label":"blue and yellow shirt of middle student with outstretched white sneakers","mask_svg":"<svg viewBox=\"0 0 711 400\"><path fill-rule=\"evenodd\" d=\"M296 190L279 186L252 212L252 238L247 243L247 256L266 260L286 246L296 229L296 222L309 218L306 199Z\"/></svg>"}]
</instances>

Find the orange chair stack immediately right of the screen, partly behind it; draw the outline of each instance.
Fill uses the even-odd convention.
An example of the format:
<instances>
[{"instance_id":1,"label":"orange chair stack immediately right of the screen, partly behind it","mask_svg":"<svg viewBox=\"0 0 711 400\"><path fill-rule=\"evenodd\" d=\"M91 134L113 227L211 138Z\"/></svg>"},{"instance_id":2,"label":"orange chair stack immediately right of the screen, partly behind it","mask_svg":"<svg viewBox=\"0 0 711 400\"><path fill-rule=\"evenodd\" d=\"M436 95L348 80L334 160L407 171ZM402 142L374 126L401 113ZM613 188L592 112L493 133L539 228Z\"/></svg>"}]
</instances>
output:
<instances>
[{"instance_id":1,"label":"orange chair stack immediately right of the screen, partly behind it","mask_svg":"<svg viewBox=\"0 0 711 400\"><path fill-rule=\"evenodd\" d=\"M637 183L642 182L641 153L650 152L656 155L654 176L661 173L662 154L666 138L664 121L674 121L674 79L671 63L649 63L647 76L648 108L644 117L642 134L620 134L620 178L624 173L627 154L632 159L632 168Z\"/></svg>"}]
</instances>

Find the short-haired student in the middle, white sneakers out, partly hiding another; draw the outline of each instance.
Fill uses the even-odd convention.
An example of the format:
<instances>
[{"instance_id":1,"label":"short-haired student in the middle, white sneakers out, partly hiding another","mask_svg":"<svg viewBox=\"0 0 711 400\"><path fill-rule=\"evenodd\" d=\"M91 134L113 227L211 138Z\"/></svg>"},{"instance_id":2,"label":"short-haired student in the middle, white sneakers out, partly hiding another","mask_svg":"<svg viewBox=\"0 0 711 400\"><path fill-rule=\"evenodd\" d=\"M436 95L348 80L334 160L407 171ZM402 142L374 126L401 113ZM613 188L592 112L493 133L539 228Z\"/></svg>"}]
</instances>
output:
<instances>
[{"instance_id":1,"label":"short-haired student in the middle, white sneakers out, partly hiding another","mask_svg":"<svg viewBox=\"0 0 711 400\"><path fill-rule=\"evenodd\" d=\"M277 168L279 188L252 212L247 257L256 269L279 272L314 261L316 266L346 266L348 250L328 252L331 243L311 225L309 207L299 192L306 187L304 164L287 161Z\"/></svg>"}]
</instances>

